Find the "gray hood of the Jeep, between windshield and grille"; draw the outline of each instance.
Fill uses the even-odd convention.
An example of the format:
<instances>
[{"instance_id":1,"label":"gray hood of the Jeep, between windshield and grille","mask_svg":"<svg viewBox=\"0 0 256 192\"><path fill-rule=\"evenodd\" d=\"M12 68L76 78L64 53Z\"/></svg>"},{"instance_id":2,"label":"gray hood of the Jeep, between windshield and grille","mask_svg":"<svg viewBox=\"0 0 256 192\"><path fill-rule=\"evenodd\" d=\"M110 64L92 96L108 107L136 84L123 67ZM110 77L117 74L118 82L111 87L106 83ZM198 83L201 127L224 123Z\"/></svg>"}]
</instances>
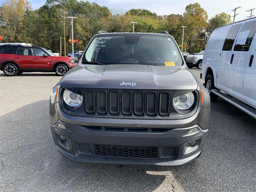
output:
<instances>
[{"instance_id":1,"label":"gray hood of the Jeep, between windshield and grille","mask_svg":"<svg viewBox=\"0 0 256 192\"><path fill-rule=\"evenodd\" d=\"M120 86L122 82L134 86ZM84 65L70 70L61 80L62 87L112 89L196 89L198 83L185 66Z\"/></svg>"}]
</instances>

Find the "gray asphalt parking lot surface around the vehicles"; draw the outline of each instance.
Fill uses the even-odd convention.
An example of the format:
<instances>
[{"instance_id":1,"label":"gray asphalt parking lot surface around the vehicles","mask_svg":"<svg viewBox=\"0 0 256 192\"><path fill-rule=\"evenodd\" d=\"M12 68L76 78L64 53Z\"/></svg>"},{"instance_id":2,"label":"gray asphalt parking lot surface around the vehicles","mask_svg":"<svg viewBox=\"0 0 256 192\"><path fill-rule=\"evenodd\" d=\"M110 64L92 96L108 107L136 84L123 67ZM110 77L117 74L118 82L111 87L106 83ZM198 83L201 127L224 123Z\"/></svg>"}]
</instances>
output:
<instances>
[{"instance_id":1,"label":"gray asphalt parking lot surface around the vehicles","mask_svg":"<svg viewBox=\"0 0 256 192\"><path fill-rule=\"evenodd\" d=\"M200 70L192 69L199 78ZM199 159L180 167L79 164L62 157L49 125L55 73L0 72L0 191L255 191L255 120L211 103Z\"/></svg>"}]
</instances>

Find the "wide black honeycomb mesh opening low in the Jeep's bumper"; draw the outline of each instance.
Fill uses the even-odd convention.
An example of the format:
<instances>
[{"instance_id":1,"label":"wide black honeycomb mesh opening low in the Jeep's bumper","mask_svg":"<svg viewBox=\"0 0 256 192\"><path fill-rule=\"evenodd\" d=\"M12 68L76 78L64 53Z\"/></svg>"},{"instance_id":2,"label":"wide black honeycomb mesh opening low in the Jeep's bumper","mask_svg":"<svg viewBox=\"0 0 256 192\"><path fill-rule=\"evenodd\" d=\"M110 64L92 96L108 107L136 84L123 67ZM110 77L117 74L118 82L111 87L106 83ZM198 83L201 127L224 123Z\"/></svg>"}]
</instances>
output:
<instances>
[{"instance_id":1,"label":"wide black honeycomb mesh opening low in the Jeep's bumper","mask_svg":"<svg viewBox=\"0 0 256 192\"><path fill-rule=\"evenodd\" d=\"M157 147L94 145L96 156L156 158Z\"/></svg>"}]
</instances>

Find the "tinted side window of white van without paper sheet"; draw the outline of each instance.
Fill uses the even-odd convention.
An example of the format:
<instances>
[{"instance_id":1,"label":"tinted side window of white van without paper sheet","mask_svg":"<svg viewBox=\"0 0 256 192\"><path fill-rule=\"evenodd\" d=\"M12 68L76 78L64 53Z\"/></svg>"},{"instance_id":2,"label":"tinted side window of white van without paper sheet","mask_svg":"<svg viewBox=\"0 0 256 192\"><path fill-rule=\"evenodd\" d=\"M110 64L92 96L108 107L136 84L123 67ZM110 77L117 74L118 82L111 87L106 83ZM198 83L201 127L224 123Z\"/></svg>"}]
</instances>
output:
<instances>
[{"instance_id":1,"label":"tinted side window of white van without paper sheet","mask_svg":"<svg viewBox=\"0 0 256 192\"><path fill-rule=\"evenodd\" d=\"M237 34L238 30L240 29L241 25L242 24L238 24L238 25L234 25L234 26L230 27L230 30L228 31L225 42L223 44L222 51L231 51L232 50L232 46L234 44L236 34Z\"/></svg>"}]
</instances>

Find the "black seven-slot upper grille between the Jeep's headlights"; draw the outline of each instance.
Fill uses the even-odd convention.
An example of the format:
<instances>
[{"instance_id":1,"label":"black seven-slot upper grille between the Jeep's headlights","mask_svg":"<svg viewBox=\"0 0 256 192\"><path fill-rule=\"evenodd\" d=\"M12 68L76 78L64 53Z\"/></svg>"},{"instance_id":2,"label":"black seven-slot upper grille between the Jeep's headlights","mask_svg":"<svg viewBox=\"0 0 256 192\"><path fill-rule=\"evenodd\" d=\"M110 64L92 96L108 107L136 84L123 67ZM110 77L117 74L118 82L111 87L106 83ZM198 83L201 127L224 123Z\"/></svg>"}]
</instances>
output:
<instances>
[{"instance_id":1,"label":"black seven-slot upper grille between the Jeep's headlights","mask_svg":"<svg viewBox=\"0 0 256 192\"><path fill-rule=\"evenodd\" d=\"M169 116L172 92L86 90L85 112L97 116Z\"/></svg>"}]
</instances>

